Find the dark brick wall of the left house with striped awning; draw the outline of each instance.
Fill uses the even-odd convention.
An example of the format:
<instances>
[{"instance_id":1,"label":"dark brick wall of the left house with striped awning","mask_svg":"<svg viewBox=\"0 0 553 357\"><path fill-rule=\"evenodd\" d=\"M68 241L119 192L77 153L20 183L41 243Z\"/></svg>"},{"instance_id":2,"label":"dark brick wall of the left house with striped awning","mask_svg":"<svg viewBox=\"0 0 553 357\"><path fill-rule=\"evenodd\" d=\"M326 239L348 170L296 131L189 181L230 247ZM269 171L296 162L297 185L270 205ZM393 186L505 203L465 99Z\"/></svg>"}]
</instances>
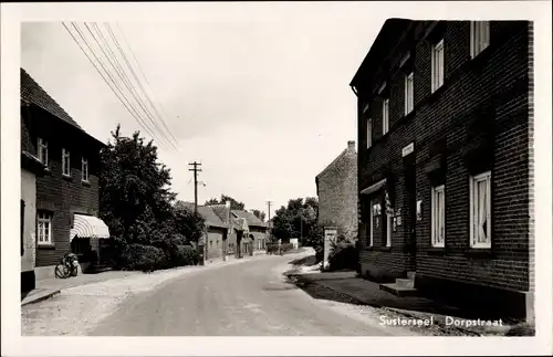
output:
<instances>
[{"instance_id":1,"label":"dark brick wall of the left house with striped awning","mask_svg":"<svg viewBox=\"0 0 553 357\"><path fill-rule=\"evenodd\" d=\"M97 214L100 147L83 132L31 106L21 108L22 148L36 155L38 137L48 140L49 165L36 178L36 210L52 213L52 245L39 245L36 266L58 264L71 251L74 213ZM71 179L62 177L62 147L70 150ZM81 159L88 160L88 183L81 181Z\"/></svg>"}]
</instances>

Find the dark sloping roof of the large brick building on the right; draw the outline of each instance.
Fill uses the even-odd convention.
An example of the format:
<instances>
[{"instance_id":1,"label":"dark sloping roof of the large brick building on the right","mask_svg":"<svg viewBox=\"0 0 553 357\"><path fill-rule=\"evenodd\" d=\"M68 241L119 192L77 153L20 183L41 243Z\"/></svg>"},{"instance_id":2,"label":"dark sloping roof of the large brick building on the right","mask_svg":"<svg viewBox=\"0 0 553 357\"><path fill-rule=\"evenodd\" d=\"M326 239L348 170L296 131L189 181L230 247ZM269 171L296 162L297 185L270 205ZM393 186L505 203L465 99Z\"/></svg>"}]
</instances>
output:
<instances>
[{"instance_id":1,"label":"dark sloping roof of the large brick building on the right","mask_svg":"<svg viewBox=\"0 0 553 357\"><path fill-rule=\"evenodd\" d=\"M408 19L386 20L380 32L378 32L378 35L373 42L371 50L349 83L351 86L358 86L361 82L367 83L367 77L371 76L369 73L374 74L378 70L383 57L395 48L401 33L405 32L413 20Z\"/></svg>"}]
</instances>

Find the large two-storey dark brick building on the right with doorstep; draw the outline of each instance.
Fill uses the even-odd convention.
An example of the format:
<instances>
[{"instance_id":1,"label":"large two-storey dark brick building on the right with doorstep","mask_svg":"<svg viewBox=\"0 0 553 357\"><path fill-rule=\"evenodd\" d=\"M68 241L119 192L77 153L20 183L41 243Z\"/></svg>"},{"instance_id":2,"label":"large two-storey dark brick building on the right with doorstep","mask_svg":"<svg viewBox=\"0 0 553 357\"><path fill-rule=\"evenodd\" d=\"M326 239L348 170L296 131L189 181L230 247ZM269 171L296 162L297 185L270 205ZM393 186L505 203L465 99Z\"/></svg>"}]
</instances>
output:
<instances>
[{"instance_id":1,"label":"large two-storey dark brick building on the right with doorstep","mask_svg":"<svg viewBox=\"0 0 553 357\"><path fill-rule=\"evenodd\" d=\"M525 21L380 30L351 86L362 272L400 279L383 288L532 317L532 33Z\"/></svg>"}]
</instances>

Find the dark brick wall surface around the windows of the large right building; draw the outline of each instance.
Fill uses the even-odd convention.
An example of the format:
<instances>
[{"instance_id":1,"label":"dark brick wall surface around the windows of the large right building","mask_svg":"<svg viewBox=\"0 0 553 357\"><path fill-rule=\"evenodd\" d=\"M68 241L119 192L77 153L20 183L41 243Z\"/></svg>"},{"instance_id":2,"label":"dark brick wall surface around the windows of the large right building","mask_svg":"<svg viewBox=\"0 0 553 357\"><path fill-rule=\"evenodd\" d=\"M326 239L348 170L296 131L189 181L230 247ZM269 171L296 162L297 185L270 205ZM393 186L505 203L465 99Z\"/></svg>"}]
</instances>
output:
<instances>
[{"instance_id":1,"label":"dark brick wall surface around the windows of the large right building","mask_svg":"<svg viewBox=\"0 0 553 357\"><path fill-rule=\"evenodd\" d=\"M367 187L384 171L394 178L394 206L403 208L403 220L409 219L405 197L401 148L415 143L416 191L422 200L422 220L416 223L417 274L459 282L529 291L533 286L533 221L531 193L532 122L529 91L529 30L526 22L491 22L490 46L470 59L468 22L449 22L441 30L445 40L445 85L430 93L429 38L422 38L427 24L415 28L415 112L405 116L403 73L388 78L390 132L382 136L382 98L359 98L359 141L366 143L366 119L361 105L371 102L373 147L359 153L359 189ZM398 53L397 56L401 54ZM377 84L376 84L377 86ZM462 151L471 145L469 123L482 120L488 113L493 133L492 164L492 250L488 255L470 254L469 171ZM430 182L425 166L430 146L444 138L446 159L446 249L430 248ZM367 237L367 206L363 196L362 238ZM392 250L367 250L362 263L405 271L409 253L407 224L392 234ZM375 245L380 244L379 234ZM532 272L532 273L531 273ZM532 276L531 276L532 275Z\"/></svg>"}]
</instances>

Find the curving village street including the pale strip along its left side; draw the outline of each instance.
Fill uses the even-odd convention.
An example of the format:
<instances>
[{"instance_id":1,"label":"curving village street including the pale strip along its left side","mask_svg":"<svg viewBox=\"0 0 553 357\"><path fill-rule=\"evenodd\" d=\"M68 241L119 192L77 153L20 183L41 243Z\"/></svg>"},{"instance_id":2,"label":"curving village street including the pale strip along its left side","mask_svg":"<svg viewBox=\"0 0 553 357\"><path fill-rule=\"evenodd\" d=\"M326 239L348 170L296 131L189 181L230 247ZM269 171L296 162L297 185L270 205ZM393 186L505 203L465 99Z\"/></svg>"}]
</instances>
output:
<instances>
[{"instance_id":1,"label":"curving village street including the pale strip along its left side","mask_svg":"<svg viewBox=\"0 0 553 357\"><path fill-rule=\"evenodd\" d=\"M102 305L101 308L91 307L82 301L83 290L73 288L74 293L69 290L51 300L23 306L23 335L409 335L409 332L397 327L379 326L377 316L371 316L369 307L314 300L288 283L282 275L290 269L288 263L309 254L261 256L192 269L149 291L137 286L138 293L126 298L115 296L116 285L111 287L107 287L111 282L86 285L86 294L96 295L91 297L91 302ZM137 281L136 285L140 283ZM111 297L100 297L102 292L109 293ZM58 318L40 316L52 309ZM95 316L90 316L91 312ZM101 318L103 316L105 318ZM25 326L30 324L49 326L39 330ZM66 329L66 326L72 327Z\"/></svg>"}]
</instances>

